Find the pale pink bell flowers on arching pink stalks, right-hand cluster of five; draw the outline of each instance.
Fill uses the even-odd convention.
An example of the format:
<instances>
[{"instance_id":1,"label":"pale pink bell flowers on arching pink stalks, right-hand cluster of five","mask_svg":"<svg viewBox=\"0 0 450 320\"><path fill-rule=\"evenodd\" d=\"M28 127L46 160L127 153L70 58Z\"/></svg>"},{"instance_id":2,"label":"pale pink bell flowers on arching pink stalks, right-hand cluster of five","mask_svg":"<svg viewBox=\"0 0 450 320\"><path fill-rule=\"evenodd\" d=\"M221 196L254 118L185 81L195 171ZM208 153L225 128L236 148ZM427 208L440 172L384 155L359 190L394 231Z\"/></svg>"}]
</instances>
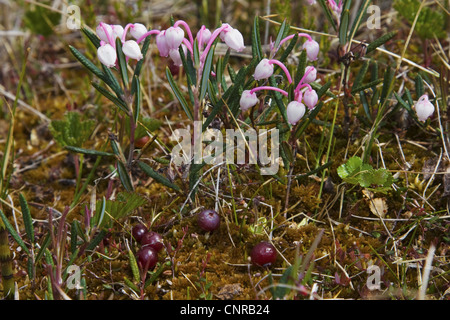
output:
<instances>
[{"instance_id":1,"label":"pale pink bell flowers on arching pink stalks, right-hand cluster of five","mask_svg":"<svg viewBox=\"0 0 450 320\"><path fill-rule=\"evenodd\" d=\"M294 36L295 35L291 35L283 39L280 42L280 46L284 42L292 39ZM311 61L317 60L317 56L319 53L319 44L316 41L314 41L308 34L299 33L298 36L307 38L307 40L303 44L303 49L306 50L306 55L308 59ZM267 59L267 58L262 59L255 68L255 72L253 74L254 79L260 81L265 80L270 76L272 76L274 72L274 65L279 66L283 70L289 84L292 84L292 77L289 74L289 71L287 70L286 66L276 59ZM305 73L302 79L299 81L296 88L294 89L294 100L287 105L286 109L287 120L290 124L292 125L297 124L297 122L305 115L306 107L308 107L309 110L312 110L316 106L318 101L317 92L314 89L312 89L310 85L311 82L314 82L316 80L316 77L317 77L316 68L313 66L308 66L305 69ZM304 92L301 91L305 87L307 88L306 91ZM286 97L289 96L289 94L283 89L271 86L259 86L251 90L244 90L240 99L240 109L242 111L246 111L258 103L259 99L256 96L256 91L260 90L273 90L280 92Z\"/></svg>"}]
</instances>

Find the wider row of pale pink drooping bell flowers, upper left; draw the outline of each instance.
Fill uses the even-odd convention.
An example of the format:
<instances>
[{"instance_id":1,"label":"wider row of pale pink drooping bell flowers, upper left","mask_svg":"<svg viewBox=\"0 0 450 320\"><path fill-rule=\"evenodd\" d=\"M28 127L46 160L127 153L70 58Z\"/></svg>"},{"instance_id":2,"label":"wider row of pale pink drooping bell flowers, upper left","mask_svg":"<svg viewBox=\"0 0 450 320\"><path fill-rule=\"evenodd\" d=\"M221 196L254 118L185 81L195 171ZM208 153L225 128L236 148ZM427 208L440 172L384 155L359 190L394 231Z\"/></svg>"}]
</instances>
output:
<instances>
[{"instance_id":1,"label":"wider row of pale pink drooping bell flowers, upper left","mask_svg":"<svg viewBox=\"0 0 450 320\"><path fill-rule=\"evenodd\" d=\"M185 38L185 31L181 27L184 27L186 30L188 39ZM126 40L128 31L134 40ZM173 26L166 30L147 30L147 28L140 23L129 23L123 28L120 25L109 25L100 22L96 32L101 40L100 47L97 50L97 57L101 63L110 68L114 67L117 63L115 42L117 38L122 42L122 51L127 59L139 61L143 58L139 44L148 36L155 35L156 46L160 56L170 57L176 65L182 64L179 51L180 46L185 55L188 51L193 55L193 48L195 45L195 39L189 25L183 20L178 20ZM220 37L229 48L236 51L242 51L245 48L242 34L237 29L232 28L229 24L222 24L222 26L217 28L214 32L211 32L205 26L202 26L196 35L199 52L201 52L201 63L204 62L209 49L217 37Z\"/></svg>"}]
</instances>

